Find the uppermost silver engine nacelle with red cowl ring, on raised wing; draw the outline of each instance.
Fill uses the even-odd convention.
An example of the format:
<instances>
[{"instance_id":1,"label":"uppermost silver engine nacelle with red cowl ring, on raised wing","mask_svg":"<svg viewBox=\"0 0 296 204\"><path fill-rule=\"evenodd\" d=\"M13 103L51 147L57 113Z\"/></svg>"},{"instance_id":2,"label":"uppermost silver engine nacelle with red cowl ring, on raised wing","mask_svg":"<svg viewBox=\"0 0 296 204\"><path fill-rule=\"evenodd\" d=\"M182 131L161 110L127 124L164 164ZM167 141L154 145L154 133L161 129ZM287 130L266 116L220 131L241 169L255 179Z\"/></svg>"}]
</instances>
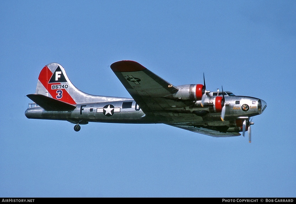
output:
<instances>
[{"instance_id":1,"label":"uppermost silver engine nacelle with red cowl ring, on raised wing","mask_svg":"<svg viewBox=\"0 0 296 204\"><path fill-rule=\"evenodd\" d=\"M179 100L200 101L205 93L205 88L202 84L186 84L177 86L177 88L179 90L173 94L173 97Z\"/></svg>"}]
</instances>

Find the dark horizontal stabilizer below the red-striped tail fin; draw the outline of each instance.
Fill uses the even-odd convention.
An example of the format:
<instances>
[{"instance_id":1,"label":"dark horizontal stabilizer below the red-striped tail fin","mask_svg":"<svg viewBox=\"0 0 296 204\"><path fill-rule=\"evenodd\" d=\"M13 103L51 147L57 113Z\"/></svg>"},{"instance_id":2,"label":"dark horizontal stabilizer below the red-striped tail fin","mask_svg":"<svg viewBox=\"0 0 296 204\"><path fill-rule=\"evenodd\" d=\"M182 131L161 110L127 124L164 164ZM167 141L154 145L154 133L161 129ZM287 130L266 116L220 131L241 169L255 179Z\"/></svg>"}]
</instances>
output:
<instances>
[{"instance_id":1,"label":"dark horizontal stabilizer below the red-striped tail fin","mask_svg":"<svg viewBox=\"0 0 296 204\"><path fill-rule=\"evenodd\" d=\"M70 103L59 101L41 94L28 94L27 96L46 111L72 111L76 108L76 106Z\"/></svg>"}]
</instances>

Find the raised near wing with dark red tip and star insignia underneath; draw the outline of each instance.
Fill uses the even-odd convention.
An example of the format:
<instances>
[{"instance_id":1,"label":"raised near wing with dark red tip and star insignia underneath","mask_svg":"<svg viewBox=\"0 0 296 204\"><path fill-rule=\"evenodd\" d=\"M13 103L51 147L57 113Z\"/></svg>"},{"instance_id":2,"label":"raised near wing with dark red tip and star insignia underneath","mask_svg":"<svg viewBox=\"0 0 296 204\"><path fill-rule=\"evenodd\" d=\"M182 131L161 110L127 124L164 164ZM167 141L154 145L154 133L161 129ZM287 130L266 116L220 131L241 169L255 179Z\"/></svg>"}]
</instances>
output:
<instances>
[{"instance_id":1,"label":"raised near wing with dark red tip and star insignia underneath","mask_svg":"<svg viewBox=\"0 0 296 204\"><path fill-rule=\"evenodd\" d=\"M110 67L146 115L165 117L168 109L188 106L188 102L168 99L178 88L141 64L123 60Z\"/></svg>"}]
</instances>

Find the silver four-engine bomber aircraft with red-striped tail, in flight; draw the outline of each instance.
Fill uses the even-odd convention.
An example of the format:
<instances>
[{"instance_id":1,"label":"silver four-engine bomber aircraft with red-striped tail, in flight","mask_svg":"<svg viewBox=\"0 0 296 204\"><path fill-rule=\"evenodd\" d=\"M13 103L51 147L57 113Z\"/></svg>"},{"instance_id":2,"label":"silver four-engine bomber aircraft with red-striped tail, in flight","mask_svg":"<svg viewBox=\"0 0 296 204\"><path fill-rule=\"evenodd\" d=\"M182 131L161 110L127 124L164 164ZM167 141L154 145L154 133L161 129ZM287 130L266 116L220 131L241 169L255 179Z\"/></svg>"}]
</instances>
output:
<instances>
[{"instance_id":1,"label":"silver four-engine bomber aircraft with red-striped tail, in flight","mask_svg":"<svg viewBox=\"0 0 296 204\"><path fill-rule=\"evenodd\" d=\"M27 118L67 120L79 131L89 122L164 123L213 137L239 136L248 131L250 117L262 114L266 102L236 96L229 91L210 92L204 84L174 86L141 64L123 60L112 71L133 98L90 95L77 89L65 69L50 63L40 72L35 94L28 94Z\"/></svg>"}]
</instances>

